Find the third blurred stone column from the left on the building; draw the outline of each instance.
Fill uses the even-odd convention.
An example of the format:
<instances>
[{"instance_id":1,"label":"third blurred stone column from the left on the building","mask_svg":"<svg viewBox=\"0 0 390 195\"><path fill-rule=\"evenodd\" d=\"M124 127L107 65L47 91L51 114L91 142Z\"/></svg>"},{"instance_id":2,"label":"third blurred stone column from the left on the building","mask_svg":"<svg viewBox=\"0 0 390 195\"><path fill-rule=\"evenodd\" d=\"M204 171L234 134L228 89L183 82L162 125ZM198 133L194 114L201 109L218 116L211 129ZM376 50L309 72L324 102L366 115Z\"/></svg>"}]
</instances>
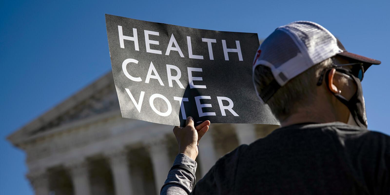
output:
<instances>
[{"instance_id":1,"label":"third blurred stone column from the left on the building","mask_svg":"<svg viewBox=\"0 0 390 195\"><path fill-rule=\"evenodd\" d=\"M131 177L127 153L120 149L107 153L110 158L110 166L114 178L115 194L116 195L131 195Z\"/></svg>"}]
</instances>

